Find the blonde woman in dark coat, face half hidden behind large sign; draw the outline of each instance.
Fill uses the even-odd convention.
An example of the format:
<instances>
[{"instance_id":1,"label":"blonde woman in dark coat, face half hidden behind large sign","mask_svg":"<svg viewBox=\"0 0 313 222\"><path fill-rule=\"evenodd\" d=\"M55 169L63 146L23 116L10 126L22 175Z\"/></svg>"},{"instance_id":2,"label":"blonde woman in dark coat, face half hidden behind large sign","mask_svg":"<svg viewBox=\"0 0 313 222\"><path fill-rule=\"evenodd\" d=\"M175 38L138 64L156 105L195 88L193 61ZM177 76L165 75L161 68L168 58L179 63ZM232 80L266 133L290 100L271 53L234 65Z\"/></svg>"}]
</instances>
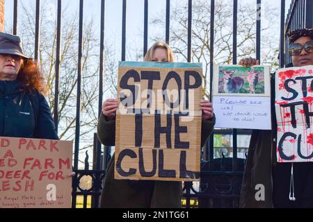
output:
<instances>
[{"instance_id":1,"label":"blonde woman in dark coat, face half hidden behind large sign","mask_svg":"<svg viewBox=\"0 0 313 222\"><path fill-rule=\"evenodd\" d=\"M155 43L146 53L145 61L173 62L174 56L168 44ZM215 117L209 101L201 101L202 109L202 146L214 128ZM100 142L106 146L115 145L115 111L118 109L116 99L108 99L102 105L97 133ZM101 207L181 207L182 182L156 180L115 180L114 155L109 162Z\"/></svg>"}]
</instances>

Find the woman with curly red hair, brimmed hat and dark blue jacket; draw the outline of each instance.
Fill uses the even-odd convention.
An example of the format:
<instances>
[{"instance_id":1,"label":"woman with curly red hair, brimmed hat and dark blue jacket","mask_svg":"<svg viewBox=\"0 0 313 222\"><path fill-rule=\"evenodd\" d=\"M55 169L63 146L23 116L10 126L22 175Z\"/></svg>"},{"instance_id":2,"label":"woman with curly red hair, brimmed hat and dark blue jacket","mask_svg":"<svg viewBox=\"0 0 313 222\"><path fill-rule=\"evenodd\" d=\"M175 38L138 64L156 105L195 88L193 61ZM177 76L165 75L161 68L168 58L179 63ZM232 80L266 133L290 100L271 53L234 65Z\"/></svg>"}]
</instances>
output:
<instances>
[{"instance_id":1,"label":"woman with curly red hair, brimmed hat and dark blue jacket","mask_svg":"<svg viewBox=\"0 0 313 222\"><path fill-rule=\"evenodd\" d=\"M0 135L58 139L45 78L17 35L0 33Z\"/></svg>"}]
</instances>

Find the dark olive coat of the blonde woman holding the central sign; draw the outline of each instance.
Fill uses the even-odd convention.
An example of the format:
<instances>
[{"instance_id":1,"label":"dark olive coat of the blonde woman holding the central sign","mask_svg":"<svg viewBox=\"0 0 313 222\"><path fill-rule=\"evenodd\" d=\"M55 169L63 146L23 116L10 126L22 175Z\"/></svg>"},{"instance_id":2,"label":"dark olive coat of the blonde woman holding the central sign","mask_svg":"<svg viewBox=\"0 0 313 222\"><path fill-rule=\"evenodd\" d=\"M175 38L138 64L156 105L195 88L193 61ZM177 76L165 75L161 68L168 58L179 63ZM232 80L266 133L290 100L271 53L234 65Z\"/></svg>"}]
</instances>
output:
<instances>
[{"instance_id":1,"label":"dark olive coat of the blonde woman holding the central sign","mask_svg":"<svg viewBox=\"0 0 313 222\"><path fill-rule=\"evenodd\" d=\"M201 146L207 142L214 124L215 116L211 120L202 121ZM108 121L104 114L101 114L97 125L97 135L102 144L114 146L115 120ZM179 208L181 198L182 182L115 180L113 155L106 169L100 207Z\"/></svg>"}]
</instances>

